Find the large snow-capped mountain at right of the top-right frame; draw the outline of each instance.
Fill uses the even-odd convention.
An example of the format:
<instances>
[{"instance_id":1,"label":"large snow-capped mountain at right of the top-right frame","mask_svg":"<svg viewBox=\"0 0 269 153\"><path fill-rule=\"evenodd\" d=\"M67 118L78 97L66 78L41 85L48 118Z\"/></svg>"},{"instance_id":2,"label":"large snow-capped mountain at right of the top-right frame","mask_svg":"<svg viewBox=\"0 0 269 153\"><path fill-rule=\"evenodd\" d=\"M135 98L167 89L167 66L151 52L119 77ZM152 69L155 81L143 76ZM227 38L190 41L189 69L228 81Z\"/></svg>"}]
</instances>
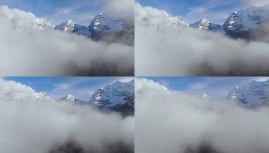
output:
<instances>
[{"instance_id":1,"label":"large snow-capped mountain at right of the top-right frame","mask_svg":"<svg viewBox=\"0 0 269 153\"><path fill-rule=\"evenodd\" d=\"M269 7L249 7L231 14L223 27L232 37L248 38L266 18L269 17Z\"/></svg>"}]
</instances>

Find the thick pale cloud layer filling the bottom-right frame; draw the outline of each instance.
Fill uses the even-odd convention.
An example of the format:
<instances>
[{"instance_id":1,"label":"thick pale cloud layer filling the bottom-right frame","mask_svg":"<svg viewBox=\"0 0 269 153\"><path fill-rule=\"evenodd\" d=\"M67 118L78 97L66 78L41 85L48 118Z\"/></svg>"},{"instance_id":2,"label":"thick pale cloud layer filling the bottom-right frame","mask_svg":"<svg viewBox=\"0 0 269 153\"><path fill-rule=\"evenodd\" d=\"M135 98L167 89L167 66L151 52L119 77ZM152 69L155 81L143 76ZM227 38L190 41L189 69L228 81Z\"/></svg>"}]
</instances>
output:
<instances>
[{"instance_id":1,"label":"thick pale cloud layer filling the bottom-right frame","mask_svg":"<svg viewBox=\"0 0 269 153\"><path fill-rule=\"evenodd\" d=\"M136 80L135 151L268 152L269 108L206 100ZM149 90L150 89L150 90Z\"/></svg>"}]
</instances>

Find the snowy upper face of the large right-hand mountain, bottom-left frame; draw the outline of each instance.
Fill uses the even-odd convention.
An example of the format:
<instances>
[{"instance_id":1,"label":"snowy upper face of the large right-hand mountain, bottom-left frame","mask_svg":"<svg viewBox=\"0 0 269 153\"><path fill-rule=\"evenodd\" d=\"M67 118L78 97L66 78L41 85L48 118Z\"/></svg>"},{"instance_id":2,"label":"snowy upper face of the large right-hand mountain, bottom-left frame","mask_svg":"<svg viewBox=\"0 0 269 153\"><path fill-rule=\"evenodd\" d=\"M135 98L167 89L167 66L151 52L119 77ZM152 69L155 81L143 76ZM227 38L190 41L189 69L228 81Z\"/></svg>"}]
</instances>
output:
<instances>
[{"instance_id":1,"label":"snowy upper face of the large right-hand mountain, bottom-left frame","mask_svg":"<svg viewBox=\"0 0 269 153\"><path fill-rule=\"evenodd\" d=\"M100 108L117 107L132 99L134 99L134 80L128 83L116 82L100 88L89 100L89 104Z\"/></svg>"}]
</instances>

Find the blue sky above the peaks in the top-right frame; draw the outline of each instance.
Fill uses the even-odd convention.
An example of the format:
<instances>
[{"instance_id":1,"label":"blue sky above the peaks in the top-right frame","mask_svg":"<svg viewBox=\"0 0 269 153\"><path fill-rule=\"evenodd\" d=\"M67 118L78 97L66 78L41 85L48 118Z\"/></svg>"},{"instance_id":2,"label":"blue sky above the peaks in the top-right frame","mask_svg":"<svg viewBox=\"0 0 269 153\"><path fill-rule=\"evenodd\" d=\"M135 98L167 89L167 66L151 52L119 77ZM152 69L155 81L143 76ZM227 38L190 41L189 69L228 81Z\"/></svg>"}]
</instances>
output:
<instances>
[{"instance_id":1,"label":"blue sky above the peaks in the top-right frame","mask_svg":"<svg viewBox=\"0 0 269 153\"><path fill-rule=\"evenodd\" d=\"M248 6L262 6L269 0L136 0L142 6L151 6L173 16L181 16L192 24L207 18L210 22L223 24L234 11Z\"/></svg>"}]
</instances>

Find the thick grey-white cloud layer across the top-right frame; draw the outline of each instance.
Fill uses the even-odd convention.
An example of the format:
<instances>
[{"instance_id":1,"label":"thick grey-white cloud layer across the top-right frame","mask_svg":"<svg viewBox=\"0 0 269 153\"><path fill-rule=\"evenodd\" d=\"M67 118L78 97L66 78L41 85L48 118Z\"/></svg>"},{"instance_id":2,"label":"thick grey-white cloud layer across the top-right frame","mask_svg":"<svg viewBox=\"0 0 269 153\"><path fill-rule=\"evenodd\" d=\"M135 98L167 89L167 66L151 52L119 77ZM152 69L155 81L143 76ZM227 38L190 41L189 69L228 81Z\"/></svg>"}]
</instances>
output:
<instances>
[{"instance_id":1,"label":"thick grey-white cloud layer across the top-right frame","mask_svg":"<svg viewBox=\"0 0 269 153\"><path fill-rule=\"evenodd\" d=\"M137 76L269 74L269 44L234 40L200 29L147 27L141 24L145 13L153 18L159 10L144 9L136 4Z\"/></svg>"}]
</instances>

